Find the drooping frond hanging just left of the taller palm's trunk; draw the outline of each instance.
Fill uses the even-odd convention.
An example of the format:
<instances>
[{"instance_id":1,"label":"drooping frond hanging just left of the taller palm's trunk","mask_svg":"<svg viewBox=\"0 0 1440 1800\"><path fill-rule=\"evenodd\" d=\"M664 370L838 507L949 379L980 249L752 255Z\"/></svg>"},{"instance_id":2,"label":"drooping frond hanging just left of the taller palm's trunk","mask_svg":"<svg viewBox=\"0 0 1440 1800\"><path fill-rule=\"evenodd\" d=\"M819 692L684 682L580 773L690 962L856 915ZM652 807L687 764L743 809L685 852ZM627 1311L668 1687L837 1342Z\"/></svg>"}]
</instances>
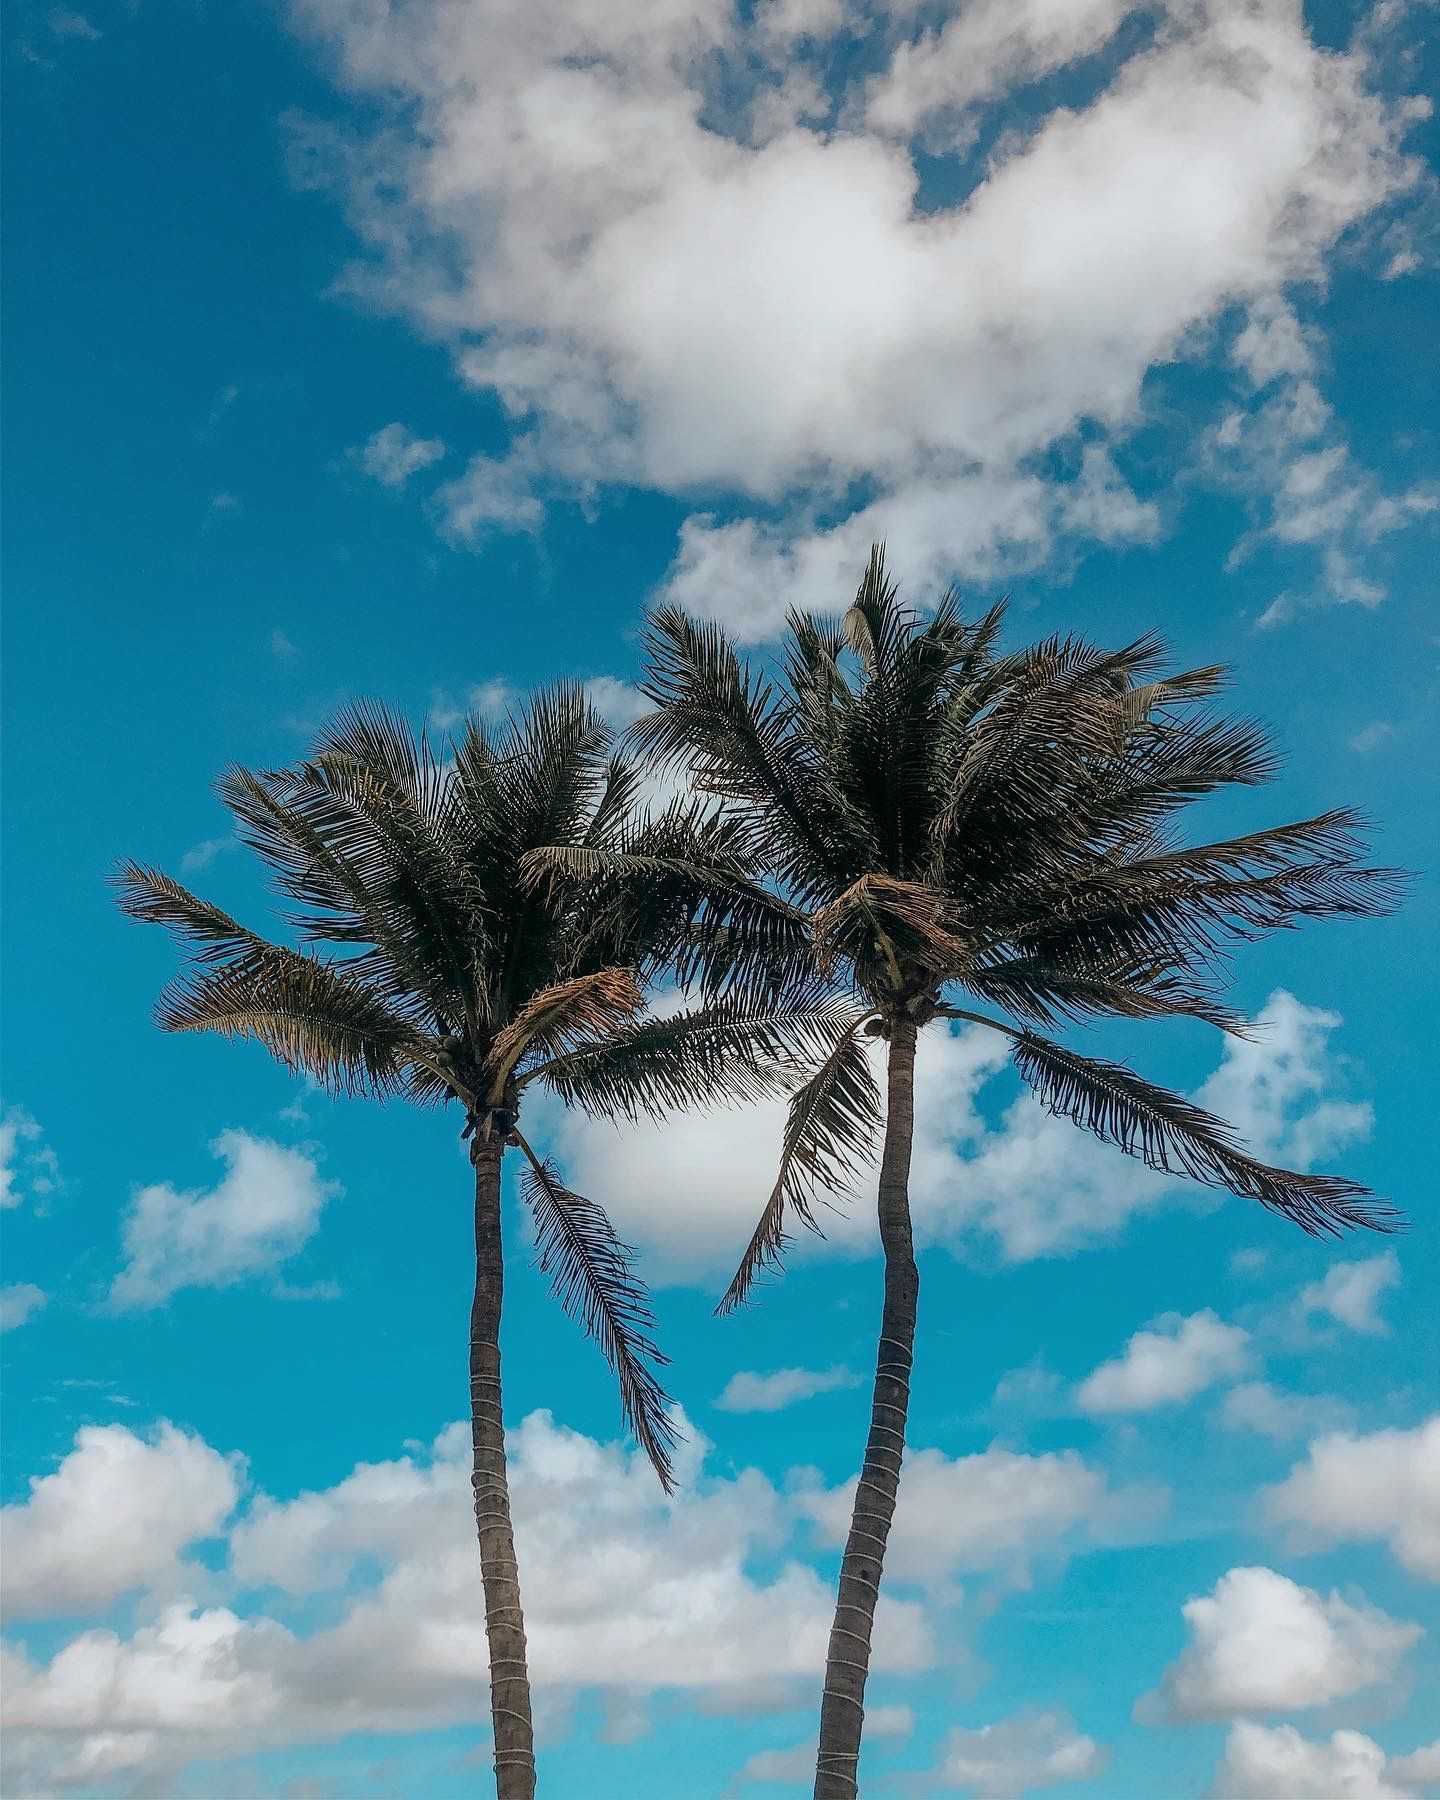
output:
<instances>
[{"instance_id":1,"label":"drooping frond hanging just left of the taller palm's trunk","mask_svg":"<svg viewBox=\"0 0 1440 1800\"><path fill-rule=\"evenodd\" d=\"M862 1013L850 1015L824 1062L790 1100L776 1184L716 1312L743 1305L756 1278L779 1267L792 1213L819 1231L817 1195L846 1193L873 1157L884 1109L864 1051L862 1024Z\"/></svg>"}]
</instances>

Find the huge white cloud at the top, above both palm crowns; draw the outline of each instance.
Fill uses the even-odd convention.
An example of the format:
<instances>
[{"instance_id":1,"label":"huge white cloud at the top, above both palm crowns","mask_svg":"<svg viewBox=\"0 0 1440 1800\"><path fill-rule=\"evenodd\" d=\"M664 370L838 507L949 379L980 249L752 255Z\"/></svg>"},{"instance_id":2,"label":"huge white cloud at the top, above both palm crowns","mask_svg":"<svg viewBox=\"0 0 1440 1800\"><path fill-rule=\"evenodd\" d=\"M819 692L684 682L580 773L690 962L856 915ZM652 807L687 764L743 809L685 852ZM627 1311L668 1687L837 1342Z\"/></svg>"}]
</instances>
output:
<instances>
[{"instance_id":1,"label":"huge white cloud at the top, above both palm crowns","mask_svg":"<svg viewBox=\"0 0 1440 1800\"><path fill-rule=\"evenodd\" d=\"M693 517L675 565L756 635L835 605L882 526L922 583L1152 536L1109 473L1150 371L1210 355L1233 306L1262 320L1246 369L1292 365L1287 290L1413 176L1406 108L1294 0L1166 7L938 205L918 144L963 148L979 108L1105 47L1120 0L985 0L938 32L896 4L859 36L839 0L295 13L385 113L297 146L344 184L351 283L511 419L441 497L448 529L623 484L778 502L767 527ZM1103 504L1031 472L1082 425ZM877 500L844 517L859 482Z\"/></svg>"}]
</instances>

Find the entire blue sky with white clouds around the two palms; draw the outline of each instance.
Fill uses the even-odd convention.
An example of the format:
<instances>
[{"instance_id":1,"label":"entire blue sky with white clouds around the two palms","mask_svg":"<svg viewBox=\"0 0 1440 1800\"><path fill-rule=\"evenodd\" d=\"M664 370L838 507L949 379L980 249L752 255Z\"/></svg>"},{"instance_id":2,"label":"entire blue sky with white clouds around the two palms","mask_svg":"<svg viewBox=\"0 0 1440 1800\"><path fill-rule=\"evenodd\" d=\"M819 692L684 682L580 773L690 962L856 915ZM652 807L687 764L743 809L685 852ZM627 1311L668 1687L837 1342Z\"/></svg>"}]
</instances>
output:
<instances>
[{"instance_id":1,"label":"entire blue sky with white clouds around the two palms","mask_svg":"<svg viewBox=\"0 0 1440 1800\"><path fill-rule=\"evenodd\" d=\"M1427 25L14 0L7 1793L486 1778L464 1159L158 1035L171 952L113 860L259 918L225 763L351 695L443 724L571 675L623 718L650 599L763 655L873 535L920 601L1012 592L1017 639L1233 662L1287 769L1215 823L1354 803L1420 878L1240 959L1253 1049L1096 1039L1390 1193L1393 1244L1166 1188L929 1046L868 1791L1440 1780ZM799 1795L864 1211L716 1321L776 1118L545 1130L643 1251L693 1431L664 1507L517 1219L549 1791Z\"/></svg>"}]
</instances>

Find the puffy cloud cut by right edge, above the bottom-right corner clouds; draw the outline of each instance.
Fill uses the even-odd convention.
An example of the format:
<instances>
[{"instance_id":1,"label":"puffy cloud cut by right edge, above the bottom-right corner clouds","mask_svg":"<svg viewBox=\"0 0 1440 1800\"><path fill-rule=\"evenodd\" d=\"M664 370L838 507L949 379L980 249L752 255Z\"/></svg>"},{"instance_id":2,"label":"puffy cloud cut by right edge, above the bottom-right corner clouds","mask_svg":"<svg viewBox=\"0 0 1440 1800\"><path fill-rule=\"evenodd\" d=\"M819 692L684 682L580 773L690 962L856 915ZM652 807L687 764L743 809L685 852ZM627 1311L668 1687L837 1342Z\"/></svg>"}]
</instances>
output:
<instances>
[{"instance_id":1,"label":"puffy cloud cut by right edge, above the bottom-right corner clouds","mask_svg":"<svg viewBox=\"0 0 1440 1800\"><path fill-rule=\"evenodd\" d=\"M1440 1413L1411 1431L1316 1438L1265 1508L1301 1539L1388 1543L1415 1575L1440 1580Z\"/></svg>"}]
</instances>

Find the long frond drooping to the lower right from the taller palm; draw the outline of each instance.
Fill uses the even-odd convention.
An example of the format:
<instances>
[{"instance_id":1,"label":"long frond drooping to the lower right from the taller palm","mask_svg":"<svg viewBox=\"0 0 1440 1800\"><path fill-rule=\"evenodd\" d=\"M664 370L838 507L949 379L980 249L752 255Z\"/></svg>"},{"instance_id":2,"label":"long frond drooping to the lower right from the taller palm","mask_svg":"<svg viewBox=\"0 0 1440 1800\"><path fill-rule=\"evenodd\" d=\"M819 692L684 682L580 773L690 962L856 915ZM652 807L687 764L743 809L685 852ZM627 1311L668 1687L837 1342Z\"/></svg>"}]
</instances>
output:
<instances>
[{"instance_id":1,"label":"long frond drooping to the lower right from the taller palm","mask_svg":"<svg viewBox=\"0 0 1440 1800\"><path fill-rule=\"evenodd\" d=\"M1013 1062L1040 1102L1147 1166L1228 1188L1283 1213L1312 1237L1355 1226L1399 1229L1386 1201L1343 1175L1271 1168L1249 1156L1224 1120L1157 1087L1125 1064L1082 1057L1030 1031L1015 1033Z\"/></svg>"}]
</instances>

